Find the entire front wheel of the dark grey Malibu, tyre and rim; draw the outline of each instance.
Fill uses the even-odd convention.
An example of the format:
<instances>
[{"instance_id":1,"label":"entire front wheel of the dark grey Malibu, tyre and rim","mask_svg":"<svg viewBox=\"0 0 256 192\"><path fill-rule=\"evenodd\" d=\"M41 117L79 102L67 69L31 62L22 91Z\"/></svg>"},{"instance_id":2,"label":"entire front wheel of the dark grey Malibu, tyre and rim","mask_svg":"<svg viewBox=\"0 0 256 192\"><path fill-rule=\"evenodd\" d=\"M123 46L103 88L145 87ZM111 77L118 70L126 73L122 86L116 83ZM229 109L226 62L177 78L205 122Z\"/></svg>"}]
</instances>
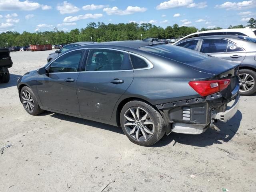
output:
<instances>
[{"instance_id":1,"label":"entire front wheel of the dark grey Malibu, tyre and rim","mask_svg":"<svg viewBox=\"0 0 256 192\"><path fill-rule=\"evenodd\" d=\"M37 98L36 98L34 92L29 87L25 86L21 89L20 98L21 98L21 102L24 106L24 109L30 115L38 115L38 114L44 112L44 110L42 110L40 108L40 106L38 105Z\"/></svg>"}]
</instances>

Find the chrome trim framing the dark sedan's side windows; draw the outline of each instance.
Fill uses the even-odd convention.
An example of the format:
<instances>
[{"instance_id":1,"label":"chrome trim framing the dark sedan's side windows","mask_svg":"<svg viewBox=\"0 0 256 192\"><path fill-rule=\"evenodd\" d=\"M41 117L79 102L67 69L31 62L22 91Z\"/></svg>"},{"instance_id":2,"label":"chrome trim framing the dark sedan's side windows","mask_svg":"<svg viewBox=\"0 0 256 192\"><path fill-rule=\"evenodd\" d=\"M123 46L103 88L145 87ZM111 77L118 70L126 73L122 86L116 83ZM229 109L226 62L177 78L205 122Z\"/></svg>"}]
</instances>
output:
<instances>
[{"instance_id":1,"label":"chrome trim framing the dark sedan's side windows","mask_svg":"<svg viewBox=\"0 0 256 192\"><path fill-rule=\"evenodd\" d=\"M79 48L79 49L75 49L75 50L70 50L64 54L67 54L69 52L72 52L72 51L76 51L76 50L86 50L86 49L106 49L106 50L114 50L114 51L120 51L120 52L124 52L124 53L127 53L127 54L132 54L134 56L137 56L139 58L141 58L142 60L144 60L148 66L145 67L145 68L139 68L139 69L128 69L128 70L108 70L108 71L78 71L78 72L59 72L59 73L92 73L92 72L122 72L122 71L137 71L137 70L146 70L146 69L152 69L154 67L154 65L147 59L145 58L144 56L141 56L139 54L136 54L136 53L133 53L133 52L128 52L128 51L124 51L124 50L120 50L120 49L114 49L114 48L100 48L100 47L92 47L92 48ZM52 64L52 62L54 62L56 59L60 58L60 56L64 55L64 54L61 54L59 56L57 56L56 58L54 58L53 60L50 61L50 63L45 67L47 68L48 66L50 66ZM132 61L131 61L132 63ZM57 73L49 73L49 74L57 74Z\"/></svg>"}]
</instances>

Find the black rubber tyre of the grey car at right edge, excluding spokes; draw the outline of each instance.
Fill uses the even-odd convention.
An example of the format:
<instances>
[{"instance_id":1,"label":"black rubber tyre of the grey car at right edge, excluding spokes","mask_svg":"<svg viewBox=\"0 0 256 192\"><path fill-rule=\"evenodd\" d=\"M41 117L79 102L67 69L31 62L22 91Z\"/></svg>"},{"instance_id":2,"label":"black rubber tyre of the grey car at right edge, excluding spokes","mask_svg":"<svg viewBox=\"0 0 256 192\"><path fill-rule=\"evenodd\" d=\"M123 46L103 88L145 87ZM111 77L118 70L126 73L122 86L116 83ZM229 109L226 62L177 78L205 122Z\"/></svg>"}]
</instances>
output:
<instances>
[{"instance_id":1,"label":"black rubber tyre of the grey car at right edge, excluding spokes","mask_svg":"<svg viewBox=\"0 0 256 192\"><path fill-rule=\"evenodd\" d=\"M244 77L242 74L248 74L250 77L247 79L248 81L252 81L254 82L254 85L248 85L250 86L250 90L248 91L243 91L242 90L242 85L240 85L240 90L239 90L239 94L240 95L244 95L244 96L249 96L251 94L254 94L256 92L256 85L255 85L255 82L256 82L256 72L253 71L253 70L250 70L250 69L241 69L239 70L239 75L240 75L240 78ZM242 79L241 78L241 79ZM240 82L241 83L241 82Z\"/></svg>"}]
</instances>

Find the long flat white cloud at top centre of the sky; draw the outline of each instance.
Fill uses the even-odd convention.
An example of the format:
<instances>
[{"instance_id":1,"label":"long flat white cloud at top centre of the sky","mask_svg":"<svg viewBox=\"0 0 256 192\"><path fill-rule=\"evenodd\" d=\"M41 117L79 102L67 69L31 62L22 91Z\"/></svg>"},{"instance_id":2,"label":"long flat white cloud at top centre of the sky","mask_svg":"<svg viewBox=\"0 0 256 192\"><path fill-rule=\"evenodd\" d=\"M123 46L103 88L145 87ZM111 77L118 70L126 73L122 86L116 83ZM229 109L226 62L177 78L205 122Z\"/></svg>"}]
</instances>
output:
<instances>
[{"instance_id":1,"label":"long flat white cloud at top centre of the sky","mask_svg":"<svg viewBox=\"0 0 256 192\"><path fill-rule=\"evenodd\" d=\"M136 12L145 12L147 8L144 7L132 7L128 6L125 10L120 10L118 7L112 8L104 8L103 11L106 12L108 15L129 15L134 14Z\"/></svg>"}]
</instances>

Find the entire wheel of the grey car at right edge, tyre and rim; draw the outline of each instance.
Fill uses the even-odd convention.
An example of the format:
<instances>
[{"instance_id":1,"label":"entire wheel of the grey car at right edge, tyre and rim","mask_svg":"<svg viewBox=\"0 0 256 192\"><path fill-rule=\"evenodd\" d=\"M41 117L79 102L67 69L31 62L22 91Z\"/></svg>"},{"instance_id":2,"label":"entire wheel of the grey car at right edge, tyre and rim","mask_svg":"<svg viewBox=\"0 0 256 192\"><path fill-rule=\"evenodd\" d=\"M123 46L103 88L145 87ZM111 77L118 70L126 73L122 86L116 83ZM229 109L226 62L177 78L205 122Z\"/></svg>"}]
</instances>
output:
<instances>
[{"instance_id":1,"label":"entire wheel of the grey car at right edge, tyre and rim","mask_svg":"<svg viewBox=\"0 0 256 192\"><path fill-rule=\"evenodd\" d=\"M256 92L255 80L256 72L249 69L239 70L239 94L249 96Z\"/></svg>"}]
</instances>

